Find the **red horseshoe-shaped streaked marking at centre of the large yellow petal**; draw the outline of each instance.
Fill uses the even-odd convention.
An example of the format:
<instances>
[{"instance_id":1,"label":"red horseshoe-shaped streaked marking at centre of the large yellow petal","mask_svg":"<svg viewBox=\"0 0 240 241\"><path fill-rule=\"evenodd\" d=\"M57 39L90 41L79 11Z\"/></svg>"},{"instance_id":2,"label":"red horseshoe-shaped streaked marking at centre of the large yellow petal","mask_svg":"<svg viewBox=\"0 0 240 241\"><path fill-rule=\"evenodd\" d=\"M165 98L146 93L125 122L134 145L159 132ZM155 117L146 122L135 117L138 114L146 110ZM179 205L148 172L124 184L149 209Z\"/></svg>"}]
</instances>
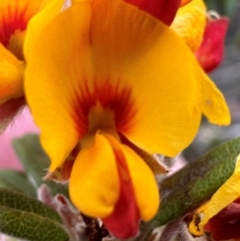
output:
<instances>
[{"instance_id":1,"label":"red horseshoe-shaped streaked marking at centre of the large yellow petal","mask_svg":"<svg viewBox=\"0 0 240 241\"><path fill-rule=\"evenodd\" d=\"M88 114L92 107L101 104L114 113L116 131L129 130L133 125L133 117L136 113L134 101L131 98L131 88L120 88L119 84L111 84L110 81L95 83L93 90L89 89L87 83L81 88L81 96L74 100L75 113L78 130L81 135L88 131Z\"/></svg>"}]
</instances>

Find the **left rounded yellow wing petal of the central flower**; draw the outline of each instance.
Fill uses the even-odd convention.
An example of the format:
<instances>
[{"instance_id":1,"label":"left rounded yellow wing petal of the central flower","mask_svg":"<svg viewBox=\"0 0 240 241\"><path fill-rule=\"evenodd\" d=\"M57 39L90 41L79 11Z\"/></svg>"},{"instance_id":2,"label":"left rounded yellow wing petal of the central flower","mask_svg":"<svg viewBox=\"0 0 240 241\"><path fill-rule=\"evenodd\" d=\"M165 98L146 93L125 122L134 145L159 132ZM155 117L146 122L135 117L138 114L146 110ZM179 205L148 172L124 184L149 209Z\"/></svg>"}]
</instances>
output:
<instances>
[{"instance_id":1,"label":"left rounded yellow wing petal of the central flower","mask_svg":"<svg viewBox=\"0 0 240 241\"><path fill-rule=\"evenodd\" d=\"M120 193L117 163L101 134L97 133L94 143L83 148L75 160L69 192L76 207L89 216L106 217L113 212Z\"/></svg>"}]
</instances>

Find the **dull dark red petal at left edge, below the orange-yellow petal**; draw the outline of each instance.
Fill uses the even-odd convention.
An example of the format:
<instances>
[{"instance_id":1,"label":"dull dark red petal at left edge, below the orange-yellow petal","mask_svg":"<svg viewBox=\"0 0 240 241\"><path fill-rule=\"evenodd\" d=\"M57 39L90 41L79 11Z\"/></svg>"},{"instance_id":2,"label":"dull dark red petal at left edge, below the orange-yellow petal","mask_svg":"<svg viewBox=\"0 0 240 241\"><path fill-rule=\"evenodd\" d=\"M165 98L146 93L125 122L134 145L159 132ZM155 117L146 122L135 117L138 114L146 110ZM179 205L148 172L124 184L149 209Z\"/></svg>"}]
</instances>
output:
<instances>
[{"instance_id":1,"label":"dull dark red petal at left edge, below the orange-yellow petal","mask_svg":"<svg viewBox=\"0 0 240 241\"><path fill-rule=\"evenodd\" d=\"M11 99L0 105L0 133L2 133L18 112L26 105L23 97Z\"/></svg>"}]
</instances>

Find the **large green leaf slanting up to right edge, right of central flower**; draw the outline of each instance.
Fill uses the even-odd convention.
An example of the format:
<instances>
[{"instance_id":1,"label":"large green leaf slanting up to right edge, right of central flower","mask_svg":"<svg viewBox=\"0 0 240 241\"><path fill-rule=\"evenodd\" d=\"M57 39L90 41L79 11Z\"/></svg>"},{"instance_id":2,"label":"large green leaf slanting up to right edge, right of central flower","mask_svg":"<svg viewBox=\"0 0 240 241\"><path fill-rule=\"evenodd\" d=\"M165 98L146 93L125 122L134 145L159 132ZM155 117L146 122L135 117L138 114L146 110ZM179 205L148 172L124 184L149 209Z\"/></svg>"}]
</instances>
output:
<instances>
[{"instance_id":1,"label":"large green leaf slanting up to right edge, right of central flower","mask_svg":"<svg viewBox=\"0 0 240 241\"><path fill-rule=\"evenodd\" d=\"M233 173L239 152L240 138L236 138L164 179L160 209L151 225L165 225L208 200Z\"/></svg>"}]
</instances>

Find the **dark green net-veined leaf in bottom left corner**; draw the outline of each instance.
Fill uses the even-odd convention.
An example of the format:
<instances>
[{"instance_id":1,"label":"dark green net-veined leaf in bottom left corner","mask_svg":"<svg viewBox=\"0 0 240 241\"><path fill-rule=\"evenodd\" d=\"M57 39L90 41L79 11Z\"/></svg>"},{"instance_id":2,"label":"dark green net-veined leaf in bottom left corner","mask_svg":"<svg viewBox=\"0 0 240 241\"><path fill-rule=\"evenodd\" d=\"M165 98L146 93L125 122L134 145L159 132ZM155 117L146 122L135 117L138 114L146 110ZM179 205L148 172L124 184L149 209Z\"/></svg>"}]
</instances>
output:
<instances>
[{"instance_id":1,"label":"dark green net-veined leaf in bottom left corner","mask_svg":"<svg viewBox=\"0 0 240 241\"><path fill-rule=\"evenodd\" d=\"M45 204L0 188L0 232L32 241L66 241L61 217Z\"/></svg>"}]
</instances>

